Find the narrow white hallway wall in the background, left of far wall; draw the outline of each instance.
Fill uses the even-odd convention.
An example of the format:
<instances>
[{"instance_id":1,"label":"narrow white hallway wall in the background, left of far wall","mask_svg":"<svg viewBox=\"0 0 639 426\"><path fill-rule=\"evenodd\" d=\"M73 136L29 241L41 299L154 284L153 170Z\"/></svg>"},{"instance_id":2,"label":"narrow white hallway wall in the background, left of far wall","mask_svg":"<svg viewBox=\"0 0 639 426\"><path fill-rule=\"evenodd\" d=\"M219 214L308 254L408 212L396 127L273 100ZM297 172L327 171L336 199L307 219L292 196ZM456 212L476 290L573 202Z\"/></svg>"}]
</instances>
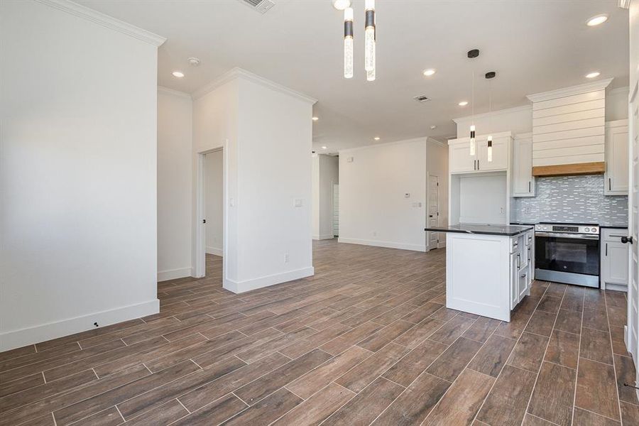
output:
<instances>
[{"instance_id":1,"label":"narrow white hallway wall in the background, left of far wall","mask_svg":"<svg viewBox=\"0 0 639 426\"><path fill-rule=\"evenodd\" d=\"M312 158L313 239L333 238L333 184L339 184L339 158L315 154Z\"/></svg>"}]
</instances>

